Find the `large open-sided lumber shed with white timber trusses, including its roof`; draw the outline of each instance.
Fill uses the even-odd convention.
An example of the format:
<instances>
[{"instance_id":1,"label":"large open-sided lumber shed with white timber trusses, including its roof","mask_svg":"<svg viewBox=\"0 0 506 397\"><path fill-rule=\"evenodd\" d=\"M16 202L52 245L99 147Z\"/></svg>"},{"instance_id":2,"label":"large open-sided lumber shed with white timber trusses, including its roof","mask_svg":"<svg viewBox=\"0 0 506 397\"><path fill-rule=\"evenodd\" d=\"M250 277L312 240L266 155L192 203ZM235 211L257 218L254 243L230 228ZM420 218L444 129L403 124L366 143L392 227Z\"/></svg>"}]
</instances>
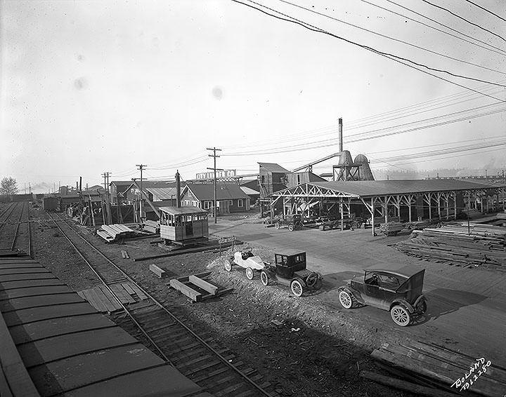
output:
<instances>
[{"instance_id":1,"label":"large open-sided lumber shed with white timber trusses, including its roof","mask_svg":"<svg viewBox=\"0 0 506 397\"><path fill-rule=\"evenodd\" d=\"M464 210L481 212L504 210L506 184L475 180L371 180L333 181L299 184L271 194L271 209L283 203L283 215L310 213L319 215L339 208L341 219L356 211L388 222L399 217L411 222L428 218L450 219ZM379 223L379 222L378 222Z\"/></svg>"}]
</instances>

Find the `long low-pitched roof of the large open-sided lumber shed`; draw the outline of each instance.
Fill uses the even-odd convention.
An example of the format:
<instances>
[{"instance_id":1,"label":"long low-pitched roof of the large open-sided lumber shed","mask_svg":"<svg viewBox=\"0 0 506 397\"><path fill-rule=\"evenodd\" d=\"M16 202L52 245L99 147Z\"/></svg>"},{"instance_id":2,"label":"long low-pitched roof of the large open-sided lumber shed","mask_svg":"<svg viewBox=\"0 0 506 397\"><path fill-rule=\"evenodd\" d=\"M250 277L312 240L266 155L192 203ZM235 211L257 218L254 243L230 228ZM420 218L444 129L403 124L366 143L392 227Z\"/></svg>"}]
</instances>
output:
<instances>
[{"instance_id":1,"label":"long low-pitched roof of the large open-sided lumber shed","mask_svg":"<svg viewBox=\"0 0 506 397\"><path fill-rule=\"evenodd\" d=\"M506 187L506 184L474 180L361 180L311 182L311 184L360 197Z\"/></svg>"}]
</instances>

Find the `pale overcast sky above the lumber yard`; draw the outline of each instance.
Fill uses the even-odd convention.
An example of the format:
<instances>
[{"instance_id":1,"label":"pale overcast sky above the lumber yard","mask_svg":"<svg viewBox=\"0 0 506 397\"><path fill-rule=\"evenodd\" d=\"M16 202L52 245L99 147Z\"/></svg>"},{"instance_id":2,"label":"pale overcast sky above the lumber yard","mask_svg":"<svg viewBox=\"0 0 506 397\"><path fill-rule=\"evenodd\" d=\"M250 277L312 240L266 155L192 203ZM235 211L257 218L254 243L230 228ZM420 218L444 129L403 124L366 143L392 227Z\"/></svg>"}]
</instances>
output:
<instances>
[{"instance_id":1,"label":"pale overcast sky above the lumber yard","mask_svg":"<svg viewBox=\"0 0 506 397\"><path fill-rule=\"evenodd\" d=\"M0 1L0 177L47 192L104 172L130 180L144 164L144 177L188 180L212 167L208 147L238 174L291 170L339 151L339 117L344 149L373 170L506 167L505 20L465 0L430 2L479 26L423 0L241 1L265 13L232 0ZM473 2L506 18L505 1Z\"/></svg>"}]
</instances>

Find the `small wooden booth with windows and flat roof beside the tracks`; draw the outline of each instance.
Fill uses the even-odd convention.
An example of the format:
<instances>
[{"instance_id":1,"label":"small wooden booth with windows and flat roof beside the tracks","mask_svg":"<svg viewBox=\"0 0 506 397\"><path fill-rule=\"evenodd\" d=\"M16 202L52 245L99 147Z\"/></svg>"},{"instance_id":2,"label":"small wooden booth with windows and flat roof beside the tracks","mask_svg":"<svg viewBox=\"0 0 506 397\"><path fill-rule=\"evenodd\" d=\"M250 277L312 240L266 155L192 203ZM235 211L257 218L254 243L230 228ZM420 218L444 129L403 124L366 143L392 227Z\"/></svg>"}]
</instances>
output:
<instances>
[{"instance_id":1,"label":"small wooden booth with windows and flat roof beside the tracks","mask_svg":"<svg viewBox=\"0 0 506 397\"><path fill-rule=\"evenodd\" d=\"M195 243L207 240L207 211L193 206L160 207L160 237L165 243Z\"/></svg>"}]
</instances>

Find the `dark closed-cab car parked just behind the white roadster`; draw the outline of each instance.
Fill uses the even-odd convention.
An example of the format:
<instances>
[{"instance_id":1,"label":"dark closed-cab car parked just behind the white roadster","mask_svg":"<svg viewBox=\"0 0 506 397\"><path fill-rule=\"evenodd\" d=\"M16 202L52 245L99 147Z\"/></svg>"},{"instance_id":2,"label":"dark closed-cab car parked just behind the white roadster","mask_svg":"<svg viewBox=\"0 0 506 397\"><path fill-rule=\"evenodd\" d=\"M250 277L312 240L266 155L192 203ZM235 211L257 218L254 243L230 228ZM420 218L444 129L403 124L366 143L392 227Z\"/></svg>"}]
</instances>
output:
<instances>
[{"instance_id":1,"label":"dark closed-cab car parked just behind the white roadster","mask_svg":"<svg viewBox=\"0 0 506 397\"><path fill-rule=\"evenodd\" d=\"M316 271L306 269L306 253L287 250L274 255L273 264L267 264L260 273L261 283L269 282L290 285L293 295L300 297L306 290L319 290L322 276Z\"/></svg>"}]
</instances>

